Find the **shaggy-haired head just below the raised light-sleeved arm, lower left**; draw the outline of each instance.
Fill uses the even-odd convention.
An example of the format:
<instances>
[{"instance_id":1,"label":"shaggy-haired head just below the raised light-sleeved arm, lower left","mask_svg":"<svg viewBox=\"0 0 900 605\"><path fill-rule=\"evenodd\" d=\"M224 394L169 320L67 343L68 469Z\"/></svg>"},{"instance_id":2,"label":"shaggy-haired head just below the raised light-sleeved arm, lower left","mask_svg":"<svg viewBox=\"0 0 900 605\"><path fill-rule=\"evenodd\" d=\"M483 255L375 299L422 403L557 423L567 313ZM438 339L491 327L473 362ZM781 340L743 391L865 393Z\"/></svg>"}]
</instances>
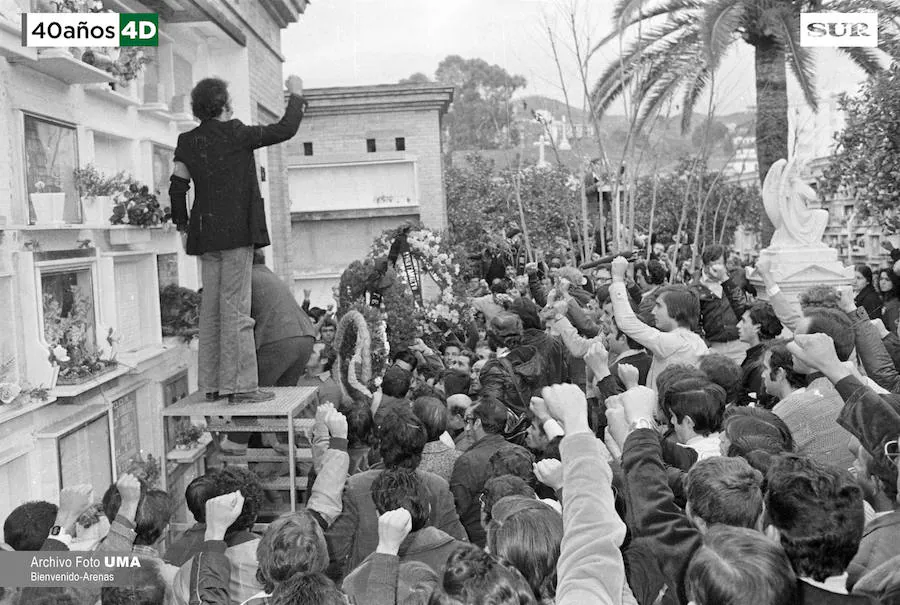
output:
<instances>
[{"instance_id":1,"label":"shaggy-haired head just below the raised light-sleeved arm, lower left","mask_svg":"<svg viewBox=\"0 0 900 605\"><path fill-rule=\"evenodd\" d=\"M269 525L256 547L256 579L266 592L296 574L328 567L328 545L319 522L308 510L286 513Z\"/></svg>"}]
</instances>

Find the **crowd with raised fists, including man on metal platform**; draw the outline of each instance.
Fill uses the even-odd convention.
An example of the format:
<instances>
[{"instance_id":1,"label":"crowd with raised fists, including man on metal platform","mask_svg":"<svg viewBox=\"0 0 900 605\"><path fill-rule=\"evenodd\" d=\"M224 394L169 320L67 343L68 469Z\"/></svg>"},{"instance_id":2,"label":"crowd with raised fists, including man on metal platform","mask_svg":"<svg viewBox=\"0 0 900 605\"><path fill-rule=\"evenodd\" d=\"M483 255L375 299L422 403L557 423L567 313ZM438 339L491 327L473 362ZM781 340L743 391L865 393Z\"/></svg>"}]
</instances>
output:
<instances>
[{"instance_id":1,"label":"crowd with raised fists, including man on metal platform","mask_svg":"<svg viewBox=\"0 0 900 605\"><path fill-rule=\"evenodd\" d=\"M272 499L260 474L283 471L272 462L212 465L183 494L124 474L99 508L66 487L58 505L12 511L3 548L130 551L140 570L126 586L3 589L0 603L900 603L894 268L876 286L857 267L855 298L815 285L795 305L768 257L758 292L720 245L696 272L661 244L590 269L515 254L471 276L470 325L418 326L361 395L333 372L334 310L297 304L252 264L268 243L252 150L296 132L305 103L289 88L281 122L246 127L227 85L201 82L171 193L202 255L206 397L317 389L302 506L254 531ZM222 196L245 212L217 214ZM170 535L176 501L195 524Z\"/></svg>"}]
</instances>

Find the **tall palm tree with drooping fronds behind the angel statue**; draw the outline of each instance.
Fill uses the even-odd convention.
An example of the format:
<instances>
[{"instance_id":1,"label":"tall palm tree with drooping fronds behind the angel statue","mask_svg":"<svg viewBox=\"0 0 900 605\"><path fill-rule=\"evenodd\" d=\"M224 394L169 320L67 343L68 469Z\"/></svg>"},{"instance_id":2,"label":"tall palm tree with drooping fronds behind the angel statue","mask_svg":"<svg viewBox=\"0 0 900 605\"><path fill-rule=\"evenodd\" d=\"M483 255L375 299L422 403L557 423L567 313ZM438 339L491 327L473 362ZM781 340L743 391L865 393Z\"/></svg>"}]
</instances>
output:
<instances>
[{"instance_id":1,"label":"tall palm tree with drooping fronds behind the angel statue","mask_svg":"<svg viewBox=\"0 0 900 605\"><path fill-rule=\"evenodd\" d=\"M738 41L753 47L756 76L756 149L759 179L788 156L787 68L804 99L816 110L812 49L800 46L801 12L878 12L881 48L893 50L900 23L896 0L619 0L614 31L594 50L623 37L636 37L600 76L592 102L606 110L635 91L638 125L663 104L681 95L682 131L690 127L694 106L706 91L722 58ZM841 48L867 75L881 71L888 52ZM772 225L763 216L763 245Z\"/></svg>"}]
</instances>

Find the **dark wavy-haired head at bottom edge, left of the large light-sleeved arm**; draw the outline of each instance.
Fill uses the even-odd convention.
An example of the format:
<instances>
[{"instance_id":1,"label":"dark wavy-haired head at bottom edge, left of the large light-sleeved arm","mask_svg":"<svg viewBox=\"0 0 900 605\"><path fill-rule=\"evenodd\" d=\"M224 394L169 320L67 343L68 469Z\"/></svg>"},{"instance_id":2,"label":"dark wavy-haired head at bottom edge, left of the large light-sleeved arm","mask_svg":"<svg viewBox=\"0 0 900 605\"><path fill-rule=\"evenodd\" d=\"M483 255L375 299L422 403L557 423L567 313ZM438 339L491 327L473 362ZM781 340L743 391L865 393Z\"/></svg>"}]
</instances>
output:
<instances>
[{"instance_id":1,"label":"dark wavy-haired head at bottom edge, left of the large light-sleeved arm","mask_svg":"<svg viewBox=\"0 0 900 605\"><path fill-rule=\"evenodd\" d=\"M512 565L477 546L454 550L444 565L444 575L429 605L536 605L528 582Z\"/></svg>"}]
</instances>

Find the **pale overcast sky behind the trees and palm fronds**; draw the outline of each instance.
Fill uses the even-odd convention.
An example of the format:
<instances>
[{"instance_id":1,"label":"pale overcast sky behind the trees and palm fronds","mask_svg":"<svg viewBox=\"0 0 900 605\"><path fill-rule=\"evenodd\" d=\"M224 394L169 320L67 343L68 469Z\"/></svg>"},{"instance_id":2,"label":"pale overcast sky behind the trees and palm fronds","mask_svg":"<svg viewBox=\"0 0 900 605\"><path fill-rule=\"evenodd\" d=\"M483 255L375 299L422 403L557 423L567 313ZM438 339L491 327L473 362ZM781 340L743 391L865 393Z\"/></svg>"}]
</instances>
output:
<instances>
[{"instance_id":1,"label":"pale overcast sky behind the trees and palm fronds","mask_svg":"<svg viewBox=\"0 0 900 605\"><path fill-rule=\"evenodd\" d=\"M282 34L285 75L297 74L307 88L396 83L415 72L433 76L451 54L481 58L528 81L521 94L563 100L550 49L554 32L570 101L582 106L583 86L575 60L568 15L574 11L581 42L596 43L610 30L610 0L314 0L299 23ZM830 49L817 58L823 96L853 91L861 74ZM588 82L616 60L618 44L598 52ZM698 103L705 112L709 98ZM716 78L717 115L755 103L753 55L743 43L723 62ZM792 105L802 104L795 90ZM624 111L624 106L613 113Z\"/></svg>"}]
</instances>

